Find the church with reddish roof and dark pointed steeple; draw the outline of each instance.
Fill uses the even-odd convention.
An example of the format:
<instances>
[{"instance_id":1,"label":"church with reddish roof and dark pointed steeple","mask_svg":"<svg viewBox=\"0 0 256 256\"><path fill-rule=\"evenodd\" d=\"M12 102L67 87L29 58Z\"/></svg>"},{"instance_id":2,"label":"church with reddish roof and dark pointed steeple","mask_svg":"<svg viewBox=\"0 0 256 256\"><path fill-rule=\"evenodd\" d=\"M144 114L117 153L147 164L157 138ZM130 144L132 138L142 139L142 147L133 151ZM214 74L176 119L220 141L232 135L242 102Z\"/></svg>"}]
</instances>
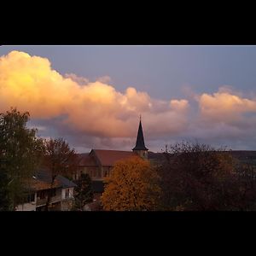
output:
<instances>
[{"instance_id":1,"label":"church with reddish roof and dark pointed steeple","mask_svg":"<svg viewBox=\"0 0 256 256\"><path fill-rule=\"evenodd\" d=\"M148 148L145 147L141 119L137 131L136 146L132 148L132 151L91 149L90 153L79 154L79 168L73 175L73 180L78 180L81 173L88 173L92 180L94 201L98 201L104 190L103 179L108 177L115 162L131 157L154 158L154 153L148 152Z\"/></svg>"}]
</instances>

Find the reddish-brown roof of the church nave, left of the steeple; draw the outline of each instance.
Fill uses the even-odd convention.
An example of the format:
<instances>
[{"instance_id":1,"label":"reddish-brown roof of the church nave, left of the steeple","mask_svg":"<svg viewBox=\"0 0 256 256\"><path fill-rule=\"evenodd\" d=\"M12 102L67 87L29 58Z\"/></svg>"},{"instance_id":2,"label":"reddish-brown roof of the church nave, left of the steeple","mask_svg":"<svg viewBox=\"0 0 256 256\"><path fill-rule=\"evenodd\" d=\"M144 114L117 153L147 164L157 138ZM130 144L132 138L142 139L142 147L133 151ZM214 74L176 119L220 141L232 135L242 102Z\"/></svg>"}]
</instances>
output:
<instances>
[{"instance_id":1,"label":"reddish-brown roof of the church nave, left of the steeple","mask_svg":"<svg viewBox=\"0 0 256 256\"><path fill-rule=\"evenodd\" d=\"M131 151L92 149L102 166L113 166L116 161L138 157Z\"/></svg>"}]
</instances>

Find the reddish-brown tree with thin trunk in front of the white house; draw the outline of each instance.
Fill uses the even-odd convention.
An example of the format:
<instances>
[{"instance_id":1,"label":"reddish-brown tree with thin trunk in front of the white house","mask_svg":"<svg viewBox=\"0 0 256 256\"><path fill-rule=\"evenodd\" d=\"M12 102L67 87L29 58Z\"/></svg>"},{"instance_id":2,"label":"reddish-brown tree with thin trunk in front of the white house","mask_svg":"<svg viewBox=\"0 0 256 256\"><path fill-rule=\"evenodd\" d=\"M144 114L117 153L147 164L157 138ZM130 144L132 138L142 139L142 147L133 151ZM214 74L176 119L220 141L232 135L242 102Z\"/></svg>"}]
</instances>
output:
<instances>
[{"instance_id":1,"label":"reddish-brown tree with thin trunk in front of the white house","mask_svg":"<svg viewBox=\"0 0 256 256\"><path fill-rule=\"evenodd\" d=\"M49 209L50 198L53 195L55 178L62 175L71 179L78 166L77 160L75 150L71 149L63 138L50 138L49 141L46 141L44 167L49 171L51 177L50 192L45 206L46 211Z\"/></svg>"}]
</instances>

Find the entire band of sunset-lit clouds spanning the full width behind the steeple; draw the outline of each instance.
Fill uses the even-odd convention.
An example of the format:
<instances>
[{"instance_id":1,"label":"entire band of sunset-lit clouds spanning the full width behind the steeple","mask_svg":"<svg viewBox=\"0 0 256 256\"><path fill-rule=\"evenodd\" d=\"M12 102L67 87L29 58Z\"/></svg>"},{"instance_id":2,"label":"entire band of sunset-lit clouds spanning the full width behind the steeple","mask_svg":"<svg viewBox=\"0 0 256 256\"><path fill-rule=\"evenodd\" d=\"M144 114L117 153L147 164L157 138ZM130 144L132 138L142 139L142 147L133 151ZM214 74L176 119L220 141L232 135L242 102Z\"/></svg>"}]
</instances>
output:
<instances>
[{"instance_id":1,"label":"entire band of sunset-lit clouds spanning the full width behind the steeple","mask_svg":"<svg viewBox=\"0 0 256 256\"><path fill-rule=\"evenodd\" d=\"M47 58L25 52L0 57L0 111L29 111L42 137L65 137L78 148L129 150L142 114L146 144L160 148L180 138L251 143L256 126L253 94L244 96L224 85L200 94L187 86L183 95L162 100L132 86L121 92L108 75L90 81L75 73L61 74Z\"/></svg>"}]
</instances>

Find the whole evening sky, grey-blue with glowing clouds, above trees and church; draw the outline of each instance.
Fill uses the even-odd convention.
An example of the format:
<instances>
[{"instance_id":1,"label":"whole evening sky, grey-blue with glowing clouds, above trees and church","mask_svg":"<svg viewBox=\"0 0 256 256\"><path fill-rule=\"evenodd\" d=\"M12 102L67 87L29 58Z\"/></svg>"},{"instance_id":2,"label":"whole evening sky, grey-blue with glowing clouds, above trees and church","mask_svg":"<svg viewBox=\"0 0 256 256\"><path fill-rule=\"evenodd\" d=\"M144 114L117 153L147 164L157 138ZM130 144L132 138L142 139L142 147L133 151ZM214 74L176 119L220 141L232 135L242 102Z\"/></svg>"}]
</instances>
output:
<instances>
[{"instance_id":1,"label":"whole evening sky, grey-blue with glowing clouds, above trees and church","mask_svg":"<svg viewBox=\"0 0 256 256\"><path fill-rule=\"evenodd\" d=\"M182 140L256 150L256 46L1 46L0 111L78 152Z\"/></svg>"}]
</instances>

